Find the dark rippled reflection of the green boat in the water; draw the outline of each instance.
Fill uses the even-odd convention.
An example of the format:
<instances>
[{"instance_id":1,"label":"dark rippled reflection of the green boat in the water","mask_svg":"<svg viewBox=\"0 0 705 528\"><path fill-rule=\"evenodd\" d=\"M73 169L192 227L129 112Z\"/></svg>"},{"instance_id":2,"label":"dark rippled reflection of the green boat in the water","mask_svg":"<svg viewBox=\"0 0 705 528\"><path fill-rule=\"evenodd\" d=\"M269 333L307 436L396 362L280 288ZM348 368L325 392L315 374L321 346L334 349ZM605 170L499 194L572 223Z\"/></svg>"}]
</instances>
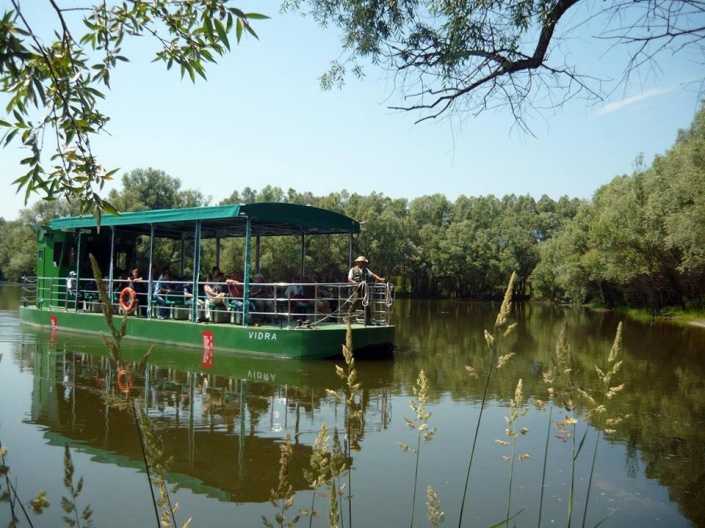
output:
<instances>
[{"instance_id":1,"label":"dark rippled reflection of the green boat in the water","mask_svg":"<svg viewBox=\"0 0 705 528\"><path fill-rule=\"evenodd\" d=\"M126 378L99 352L100 346L38 341L32 421L47 427L48 441L68 442L96 461L142 470L131 410L105 397L125 398ZM123 350L135 361L144 353L144 348ZM169 481L221 500L263 502L276 486L279 447L287 434L293 448L290 479L298 491L308 489L303 469L309 467L321 425L343 431L344 404L327 393L343 385L335 365L155 349L132 391L163 452L172 457ZM391 362L357 366L363 438L388 426L392 367Z\"/></svg>"}]
</instances>

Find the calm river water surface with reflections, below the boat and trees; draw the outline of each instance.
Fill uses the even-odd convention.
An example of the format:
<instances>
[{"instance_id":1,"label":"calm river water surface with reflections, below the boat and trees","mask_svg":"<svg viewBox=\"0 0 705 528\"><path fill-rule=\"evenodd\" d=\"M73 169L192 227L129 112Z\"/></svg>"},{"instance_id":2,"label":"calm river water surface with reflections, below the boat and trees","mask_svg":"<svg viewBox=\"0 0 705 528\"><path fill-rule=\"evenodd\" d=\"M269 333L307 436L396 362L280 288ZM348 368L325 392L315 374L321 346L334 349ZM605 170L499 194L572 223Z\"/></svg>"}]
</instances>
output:
<instances>
[{"instance_id":1,"label":"calm river water surface with reflections, below the boat and trees","mask_svg":"<svg viewBox=\"0 0 705 528\"><path fill-rule=\"evenodd\" d=\"M95 526L157 526L132 414L106 398L123 395L100 339L20 325L18 299L17 287L0 286L0 442L19 499L26 503L47 492L51 506L39 517L30 514L33 525L65 525L61 498L69 495L63 485L68 444L74 480L84 482L78 506L93 509ZM498 341L500 354L514 356L491 375L464 493L489 364L483 332L493 330L498 309L498 304L397 303L395 360L357 364L364 431L350 451L352 470L341 481L349 495L341 525L410 526L416 490L413 525L429 526L426 488L432 486L444 526L458 526L461 506L466 527L492 526L507 511L510 524L519 527L705 526L705 329L623 321L623 363L610 386L623 383L624 389L607 400L604 415L623 422L605 434L603 426L582 420L590 407L584 399L576 400L574 412L535 404L549 400L542 374L552 365L564 326L574 358L573 383L602 401L594 367L607 368L620 319L579 309L514 308L517 327ZM125 342L130 356L146 349ZM326 390L341 388L336 363L341 362L216 353L204 368L198 351L154 350L134 393L172 458L169 480L179 489L171 500L179 505L179 526L192 518L193 527L254 527L262 525L262 516L276 525L268 499L287 434L296 492L287 518L294 509L311 506L303 471L318 431L324 423L331 433L337 427L347 442L345 403ZM477 379L467 366L475 368ZM418 421L410 400L416 400L413 389L422 370L428 378L429 427L436 432L419 444L417 457L398 443L417 446L418 433L405 419ZM526 413L516 429L528 431L516 438L512 457L512 444L495 440L511 440L505 417L520 379ZM566 417L578 420L569 429L574 437L560 439L555 425ZM529 458L519 460L520 454ZM7 489L0 481L0 492ZM313 526L328 526L327 498L316 497L314 508L320 517ZM9 504L0 503L0 524L9 520ZM20 520L20 526L29 526ZM309 526L309 519L298 526Z\"/></svg>"}]
</instances>

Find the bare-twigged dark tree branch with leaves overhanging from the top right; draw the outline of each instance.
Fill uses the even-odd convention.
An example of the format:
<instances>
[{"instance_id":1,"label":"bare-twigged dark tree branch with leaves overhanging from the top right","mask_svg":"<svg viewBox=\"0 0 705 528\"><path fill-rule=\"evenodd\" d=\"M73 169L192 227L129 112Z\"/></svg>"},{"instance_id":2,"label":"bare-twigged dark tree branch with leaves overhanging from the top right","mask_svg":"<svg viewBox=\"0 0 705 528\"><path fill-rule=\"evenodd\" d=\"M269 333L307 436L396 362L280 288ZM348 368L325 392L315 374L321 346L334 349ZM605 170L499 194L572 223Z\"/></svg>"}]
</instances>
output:
<instances>
[{"instance_id":1,"label":"bare-twigged dark tree branch with leaves overhanging from the top right","mask_svg":"<svg viewBox=\"0 0 705 528\"><path fill-rule=\"evenodd\" d=\"M343 58L321 78L340 86L370 62L395 75L402 106L433 119L507 107L526 126L526 111L559 106L576 94L599 98L658 59L685 54L702 65L705 24L692 0L285 0L343 33ZM610 82L584 71L576 32L626 51L625 74ZM572 39L572 41L571 41ZM598 48L603 50L604 48Z\"/></svg>"}]
</instances>

